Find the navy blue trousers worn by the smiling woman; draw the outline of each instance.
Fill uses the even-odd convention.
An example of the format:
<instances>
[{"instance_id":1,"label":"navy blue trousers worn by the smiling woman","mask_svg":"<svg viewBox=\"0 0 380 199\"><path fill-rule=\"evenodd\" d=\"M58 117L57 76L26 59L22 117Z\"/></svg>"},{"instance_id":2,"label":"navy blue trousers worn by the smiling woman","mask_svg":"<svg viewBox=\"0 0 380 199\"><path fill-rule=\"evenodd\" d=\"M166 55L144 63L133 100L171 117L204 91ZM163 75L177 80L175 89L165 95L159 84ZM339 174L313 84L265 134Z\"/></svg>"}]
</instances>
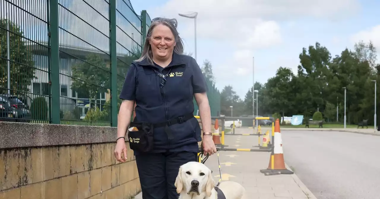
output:
<instances>
[{"instance_id":1,"label":"navy blue trousers worn by the smiling woman","mask_svg":"<svg viewBox=\"0 0 380 199\"><path fill-rule=\"evenodd\" d=\"M165 152L136 155L142 199L178 199L174 182L179 166L197 161L196 152Z\"/></svg>"}]
</instances>

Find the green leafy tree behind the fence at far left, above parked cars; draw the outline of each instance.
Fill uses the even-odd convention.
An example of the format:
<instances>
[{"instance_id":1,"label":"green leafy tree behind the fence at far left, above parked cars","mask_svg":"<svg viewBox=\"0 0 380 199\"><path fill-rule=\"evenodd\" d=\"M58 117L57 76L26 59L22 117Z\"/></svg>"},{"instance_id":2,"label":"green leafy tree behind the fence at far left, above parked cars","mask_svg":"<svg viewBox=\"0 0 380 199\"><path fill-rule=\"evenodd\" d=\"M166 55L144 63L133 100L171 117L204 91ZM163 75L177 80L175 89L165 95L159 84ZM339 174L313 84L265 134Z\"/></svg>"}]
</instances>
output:
<instances>
[{"instance_id":1,"label":"green leafy tree behind the fence at far left, above parked cars","mask_svg":"<svg viewBox=\"0 0 380 199\"><path fill-rule=\"evenodd\" d=\"M8 80L7 67L7 24L9 22L9 60L10 80ZM24 32L10 20L0 19L0 87L8 88L10 81L11 94L17 91L30 92L28 86L36 78L32 53L29 52L23 41ZM1 94L8 93L7 89L0 89Z\"/></svg>"}]
</instances>

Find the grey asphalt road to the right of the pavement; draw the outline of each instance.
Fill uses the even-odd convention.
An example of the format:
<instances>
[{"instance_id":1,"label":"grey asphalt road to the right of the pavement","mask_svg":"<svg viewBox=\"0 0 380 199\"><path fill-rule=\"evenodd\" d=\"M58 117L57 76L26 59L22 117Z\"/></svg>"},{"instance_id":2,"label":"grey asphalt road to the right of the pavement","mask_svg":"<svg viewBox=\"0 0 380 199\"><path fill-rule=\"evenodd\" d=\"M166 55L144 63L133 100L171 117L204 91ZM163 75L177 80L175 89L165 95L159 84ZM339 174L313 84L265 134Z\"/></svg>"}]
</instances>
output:
<instances>
[{"instance_id":1,"label":"grey asphalt road to the right of the pavement","mask_svg":"<svg viewBox=\"0 0 380 199\"><path fill-rule=\"evenodd\" d=\"M281 133L285 162L318 199L380 198L380 136Z\"/></svg>"}]
</instances>

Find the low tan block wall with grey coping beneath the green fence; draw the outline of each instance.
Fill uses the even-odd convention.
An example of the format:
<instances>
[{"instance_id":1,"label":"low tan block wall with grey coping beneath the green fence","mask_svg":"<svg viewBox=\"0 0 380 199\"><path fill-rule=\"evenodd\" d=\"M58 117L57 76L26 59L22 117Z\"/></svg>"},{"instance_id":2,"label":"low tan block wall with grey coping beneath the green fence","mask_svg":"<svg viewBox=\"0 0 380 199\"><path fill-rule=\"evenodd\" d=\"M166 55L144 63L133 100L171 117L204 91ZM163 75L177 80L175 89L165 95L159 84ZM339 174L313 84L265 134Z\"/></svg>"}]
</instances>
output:
<instances>
[{"instance_id":1,"label":"low tan block wall with grey coping beneath the green fence","mask_svg":"<svg viewBox=\"0 0 380 199\"><path fill-rule=\"evenodd\" d=\"M133 151L113 155L116 128L0 122L0 199L130 199Z\"/></svg>"}]
</instances>

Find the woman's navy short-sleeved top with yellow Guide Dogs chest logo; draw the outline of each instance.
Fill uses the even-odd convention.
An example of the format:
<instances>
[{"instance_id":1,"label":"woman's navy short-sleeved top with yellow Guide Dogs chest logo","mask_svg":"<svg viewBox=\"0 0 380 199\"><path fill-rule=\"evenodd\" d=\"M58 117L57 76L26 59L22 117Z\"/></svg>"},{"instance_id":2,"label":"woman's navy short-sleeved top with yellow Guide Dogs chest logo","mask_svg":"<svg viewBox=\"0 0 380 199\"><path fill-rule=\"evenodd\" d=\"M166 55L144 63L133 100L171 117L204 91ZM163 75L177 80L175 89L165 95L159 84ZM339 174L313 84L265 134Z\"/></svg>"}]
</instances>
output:
<instances>
[{"instance_id":1,"label":"woman's navy short-sleeved top with yellow Guide Dogs chest logo","mask_svg":"<svg viewBox=\"0 0 380 199\"><path fill-rule=\"evenodd\" d=\"M162 77L165 85L160 88ZM150 64L146 59L133 62L125 77L119 98L136 100L135 122L154 124L194 112L194 93L206 92L206 80L195 59L173 52L171 63L163 68ZM154 129L154 149L152 152L191 151L198 152L201 128L194 117L183 123L169 126L173 139L168 139L165 127ZM134 151L135 155L140 152Z\"/></svg>"}]
</instances>

